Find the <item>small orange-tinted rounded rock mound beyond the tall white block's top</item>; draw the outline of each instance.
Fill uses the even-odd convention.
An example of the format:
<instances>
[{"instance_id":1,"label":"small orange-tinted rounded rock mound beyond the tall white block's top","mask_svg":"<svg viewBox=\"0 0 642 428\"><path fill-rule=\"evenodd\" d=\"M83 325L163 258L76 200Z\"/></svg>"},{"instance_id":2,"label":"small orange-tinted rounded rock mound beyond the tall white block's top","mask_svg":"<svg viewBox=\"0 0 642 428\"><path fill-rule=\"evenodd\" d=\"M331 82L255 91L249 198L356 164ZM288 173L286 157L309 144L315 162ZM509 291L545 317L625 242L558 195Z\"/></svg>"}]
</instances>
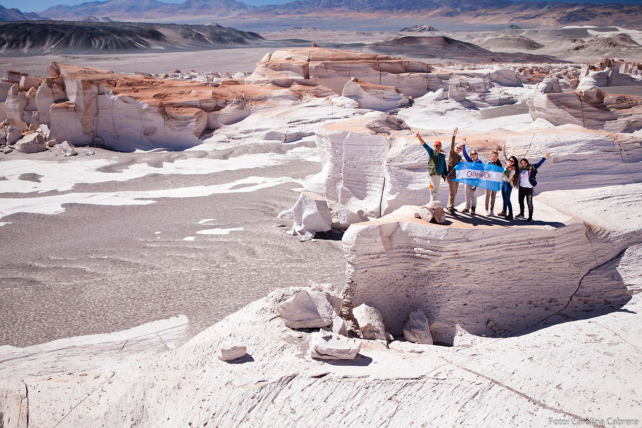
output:
<instances>
[{"instance_id":1,"label":"small orange-tinted rounded rock mound beyond the tall white block's top","mask_svg":"<svg viewBox=\"0 0 642 428\"><path fill-rule=\"evenodd\" d=\"M410 98L394 86L375 85L356 77L345 83L341 96L354 99L360 108L382 112L410 105Z\"/></svg>"}]
</instances>

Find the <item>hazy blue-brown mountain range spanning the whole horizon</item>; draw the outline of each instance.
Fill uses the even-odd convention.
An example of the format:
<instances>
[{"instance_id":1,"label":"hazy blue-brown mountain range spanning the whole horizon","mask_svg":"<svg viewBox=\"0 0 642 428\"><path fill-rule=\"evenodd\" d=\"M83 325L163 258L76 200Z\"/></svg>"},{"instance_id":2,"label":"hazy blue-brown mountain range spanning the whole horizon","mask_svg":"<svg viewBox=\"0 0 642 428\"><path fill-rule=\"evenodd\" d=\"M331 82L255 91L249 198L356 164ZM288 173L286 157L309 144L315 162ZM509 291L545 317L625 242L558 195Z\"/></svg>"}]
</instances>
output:
<instances>
[{"instance_id":1,"label":"hazy blue-brown mountain range spanning the whole horizon","mask_svg":"<svg viewBox=\"0 0 642 428\"><path fill-rule=\"evenodd\" d=\"M529 26L567 26L617 24L629 28L642 26L642 5L555 3L510 0L298 0L286 4L250 6L235 0L186 0L171 4L158 0L107 0L68 6L60 4L39 13L22 13L0 6L0 20L33 20L47 17L78 21L87 16L107 17L114 21L209 22L238 17L239 22L271 19L284 24L293 17L351 22L351 19L444 21L458 24L514 24ZM230 23L230 22L228 22Z\"/></svg>"}]
</instances>

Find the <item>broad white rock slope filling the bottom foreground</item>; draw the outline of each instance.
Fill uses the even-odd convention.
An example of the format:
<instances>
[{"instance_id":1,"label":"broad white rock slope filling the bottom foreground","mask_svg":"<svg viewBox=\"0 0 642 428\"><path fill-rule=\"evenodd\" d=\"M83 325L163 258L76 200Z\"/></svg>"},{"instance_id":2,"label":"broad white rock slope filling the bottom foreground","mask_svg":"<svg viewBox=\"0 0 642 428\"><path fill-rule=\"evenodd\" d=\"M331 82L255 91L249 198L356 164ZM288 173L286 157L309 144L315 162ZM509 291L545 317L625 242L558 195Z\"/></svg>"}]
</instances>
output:
<instances>
[{"instance_id":1,"label":"broad white rock slope filling the bottom foreground","mask_svg":"<svg viewBox=\"0 0 642 428\"><path fill-rule=\"evenodd\" d=\"M575 212L587 212L591 202ZM105 426L252 427L269 421L299 427L376 418L391 426L449 426L453 421L499 426L515 422L512 415L526 426L574 418L589 424L606 415L639 420L642 372L631 363L641 340L639 257L642 245L631 246L584 280L593 286L621 282L627 299L610 311L589 314L569 305L519 335L480 336L468 347L393 341L386 348L354 339L361 344L354 360L310 358L313 334L292 332L275 317L275 308L302 289L291 287L252 302L164 354L130 361L119 355L119 361L101 366L76 360L72 370L48 373L42 362L56 360L34 353L29 366L37 371L0 367L4 425L26 427L29 420L29 425L60 428L96 421ZM586 307L580 300L575 304ZM252 350L253 361L230 366L218 358L230 334ZM108 347L114 355L118 349ZM426 391L431 391L429 402ZM350 412L336 411L347 403L355 403Z\"/></svg>"}]
</instances>

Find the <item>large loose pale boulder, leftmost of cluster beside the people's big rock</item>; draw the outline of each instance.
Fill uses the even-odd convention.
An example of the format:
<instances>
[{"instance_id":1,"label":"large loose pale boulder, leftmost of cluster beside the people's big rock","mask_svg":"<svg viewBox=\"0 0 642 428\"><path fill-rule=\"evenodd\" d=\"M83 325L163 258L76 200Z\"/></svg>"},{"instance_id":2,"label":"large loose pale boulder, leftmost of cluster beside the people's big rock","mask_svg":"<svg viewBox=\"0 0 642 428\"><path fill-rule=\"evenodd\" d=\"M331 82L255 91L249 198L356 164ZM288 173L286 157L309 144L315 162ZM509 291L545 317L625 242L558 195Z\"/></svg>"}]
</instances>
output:
<instances>
[{"instance_id":1,"label":"large loose pale boulder, leftmost of cluster beside the people's big rock","mask_svg":"<svg viewBox=\"0 0 642 428\"><path fill-rule=\"evenodd\" d=\"M330 325L333 307L324 293L308 289L283 302L277 312L290 329L318 329Z\"/></svg>"}]
</instances>

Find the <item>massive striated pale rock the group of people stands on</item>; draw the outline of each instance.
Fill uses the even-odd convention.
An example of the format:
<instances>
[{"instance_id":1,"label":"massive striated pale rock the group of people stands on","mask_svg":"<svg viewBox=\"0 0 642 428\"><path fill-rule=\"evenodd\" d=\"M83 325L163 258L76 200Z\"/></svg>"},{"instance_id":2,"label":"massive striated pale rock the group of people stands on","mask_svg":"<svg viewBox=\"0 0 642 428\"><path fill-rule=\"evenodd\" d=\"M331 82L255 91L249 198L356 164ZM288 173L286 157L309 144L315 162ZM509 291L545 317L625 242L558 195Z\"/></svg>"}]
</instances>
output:
<instances>
[{"instance_id":1,"label":"massive striated pale rock the group of people stands on","mask_svg":"<svg viewBox=\"0 0 642 428\"><path fill-rule=\"evenodd\" d=\"M364 303L379 309L392 334L401 334L408 314L417 309L426 313L440 343L487 334L488 314L502 326L499 333L517 334L567 307L583 275L640 242L642 217L634 214L639 207L633 201L642 196L642 186L599 192L602 198L592 203L580 191L545 193L559 198L548 196L544 201L550 206L537 208L546 210L549 227L426 224L414 218L417 207L351 225L343 236L346 300L354 311ZM608 221L588 214L607 207ZM495 275L497 254L515 246L510 280ZM600 302L600 296L621 298L621 293L621 284L603 284L591 302Z\"/></svg>"}]
</instances>

